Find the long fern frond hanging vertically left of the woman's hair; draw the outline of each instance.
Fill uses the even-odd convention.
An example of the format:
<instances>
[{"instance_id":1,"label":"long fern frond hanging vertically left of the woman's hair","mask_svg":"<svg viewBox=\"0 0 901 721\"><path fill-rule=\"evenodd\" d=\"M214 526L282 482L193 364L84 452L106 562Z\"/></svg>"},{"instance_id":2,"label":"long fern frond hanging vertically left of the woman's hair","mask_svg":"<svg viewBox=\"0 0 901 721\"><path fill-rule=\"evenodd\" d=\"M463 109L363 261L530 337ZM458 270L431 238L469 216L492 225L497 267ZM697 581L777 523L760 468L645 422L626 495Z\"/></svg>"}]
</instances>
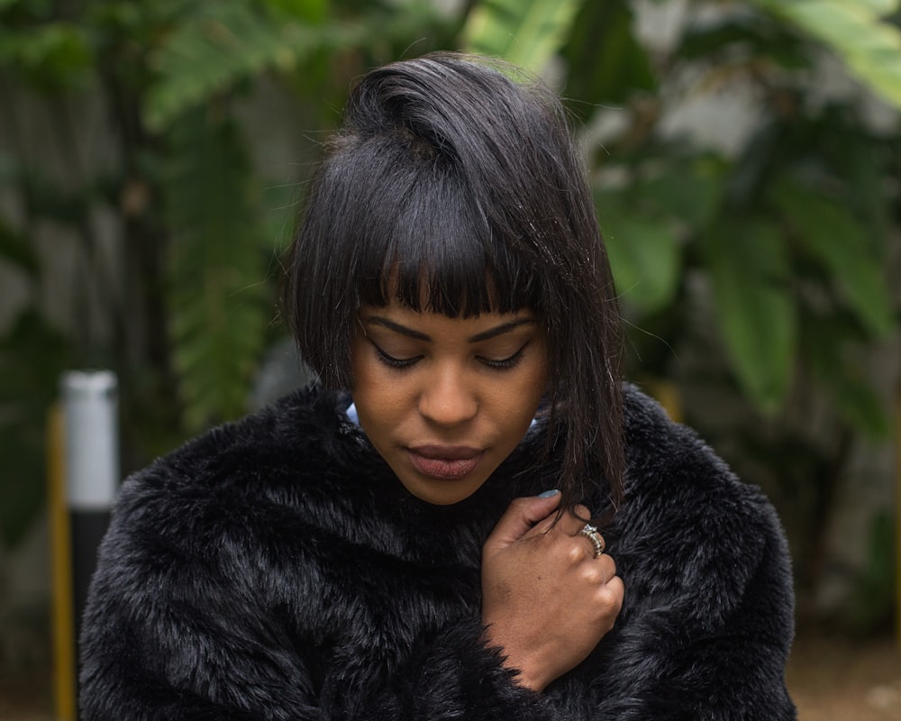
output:
<instances>
[{"instance_id":1,"label":"long fern frond hanging vertically left of the woman's hair","mask_svg":"<svg viewBox=\"0 0 901 721\"><path fill-rule=\"evenodd\" d=\"M250 160L227 114L187 114L170 141L170 330L186 424L196 430L246 408L271 315L261 303L264 233Z\"/></svg>"}]
</instances>

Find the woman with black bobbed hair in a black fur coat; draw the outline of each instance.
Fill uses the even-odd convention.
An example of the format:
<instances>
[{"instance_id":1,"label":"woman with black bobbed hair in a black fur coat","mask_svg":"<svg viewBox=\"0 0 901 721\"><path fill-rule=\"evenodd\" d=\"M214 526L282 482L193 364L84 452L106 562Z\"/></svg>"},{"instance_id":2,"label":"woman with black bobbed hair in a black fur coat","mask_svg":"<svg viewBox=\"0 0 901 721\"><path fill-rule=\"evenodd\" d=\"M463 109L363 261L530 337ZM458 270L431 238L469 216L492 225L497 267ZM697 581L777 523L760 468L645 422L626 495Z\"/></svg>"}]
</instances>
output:
<instances>
[{"instance_id":1,"label":"woman with black bobbed hair in a black fur coat","mask_svg":"<svg viewBox=\"0 0 901 721\"><path fill-rule=\"evenodd\" d=\"M795 717L778 521L621 386L560 106L510 73L354 89L287 259L321 381L125 483L84 718Z\"/></svg>"}]
</instances>

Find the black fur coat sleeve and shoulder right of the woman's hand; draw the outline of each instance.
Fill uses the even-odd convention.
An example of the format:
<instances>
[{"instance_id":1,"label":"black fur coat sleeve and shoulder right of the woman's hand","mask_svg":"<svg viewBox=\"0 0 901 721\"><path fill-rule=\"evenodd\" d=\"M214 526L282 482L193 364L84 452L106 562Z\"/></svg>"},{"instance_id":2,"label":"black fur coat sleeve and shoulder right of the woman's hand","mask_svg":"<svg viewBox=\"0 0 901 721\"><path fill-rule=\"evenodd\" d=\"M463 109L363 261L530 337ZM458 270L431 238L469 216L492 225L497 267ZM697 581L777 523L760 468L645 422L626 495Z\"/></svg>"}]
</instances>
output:
<instances>
[{"instance_id":1,"label":"black fur coat sleeve and shoulder right of the woman's hand","mask_svg":"<svg viewBox=\"0 0 901 721\"><path fill-rule=\"evenodd\" d=\"M626 597L589 681L597 717L791 721L794 590L775 511L650 399L627 399L629 488L610 543Z\"/></svg>"}]
</instances>

